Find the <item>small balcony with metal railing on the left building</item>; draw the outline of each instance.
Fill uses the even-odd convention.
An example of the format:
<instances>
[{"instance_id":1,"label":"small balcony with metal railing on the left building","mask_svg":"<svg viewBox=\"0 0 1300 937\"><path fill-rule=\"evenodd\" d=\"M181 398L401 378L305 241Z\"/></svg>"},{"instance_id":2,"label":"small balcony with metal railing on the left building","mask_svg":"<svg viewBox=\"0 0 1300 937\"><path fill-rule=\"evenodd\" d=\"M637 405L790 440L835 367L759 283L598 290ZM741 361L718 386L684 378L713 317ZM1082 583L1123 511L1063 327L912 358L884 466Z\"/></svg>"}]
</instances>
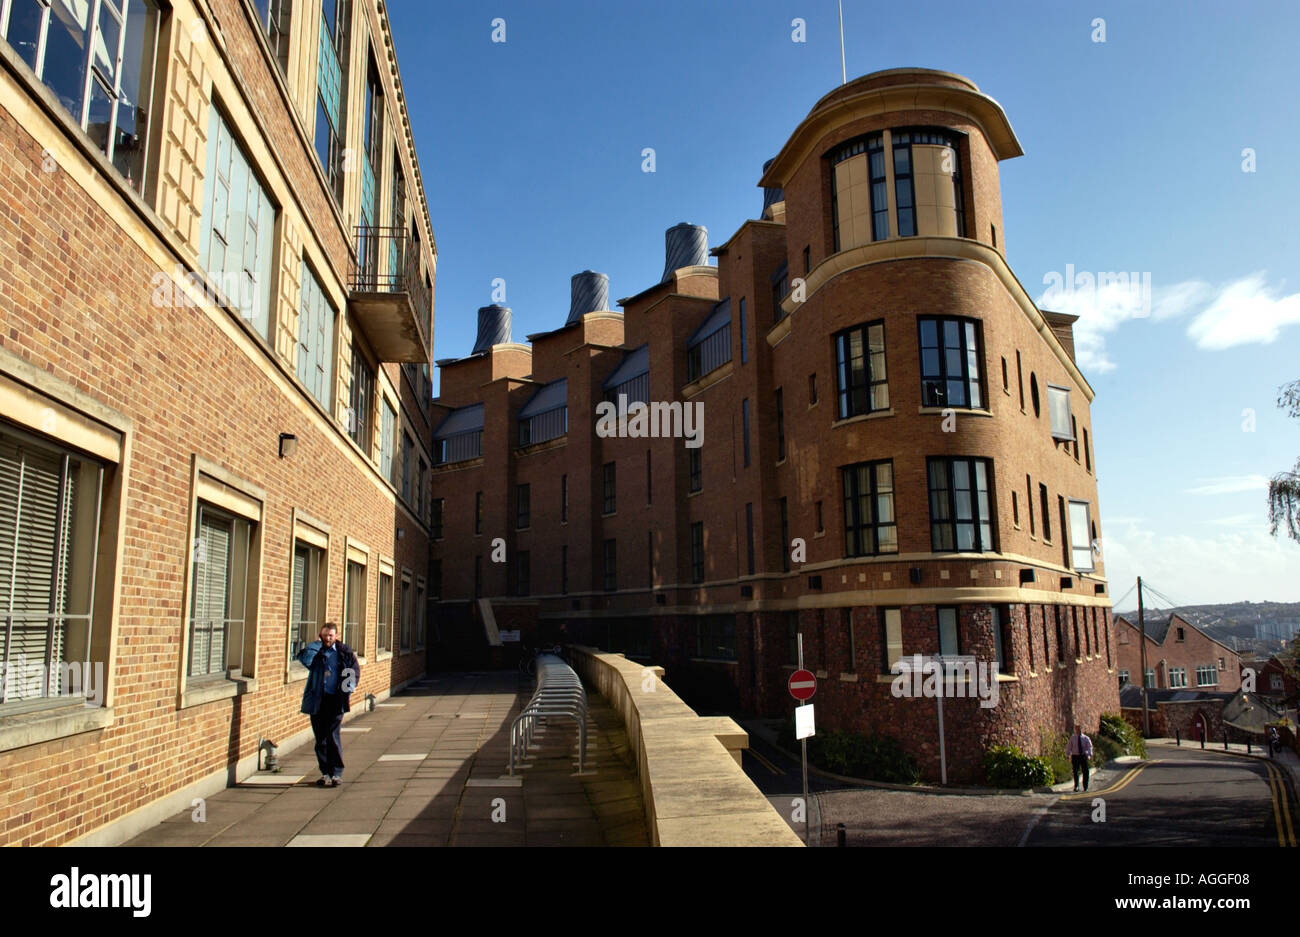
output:
<instances>
[{"instance_id":1,"label":"small balcony with metal railing on the left building","mask_svg":"<svg viewBox=\"0 0 1300 937\"><path fill-rule=\"evenodd\" d=\"M420 244L404 229L358 226L347 289L347 305L381 361L429 360L433 296Z\"/></svg>"}]
</instances>

